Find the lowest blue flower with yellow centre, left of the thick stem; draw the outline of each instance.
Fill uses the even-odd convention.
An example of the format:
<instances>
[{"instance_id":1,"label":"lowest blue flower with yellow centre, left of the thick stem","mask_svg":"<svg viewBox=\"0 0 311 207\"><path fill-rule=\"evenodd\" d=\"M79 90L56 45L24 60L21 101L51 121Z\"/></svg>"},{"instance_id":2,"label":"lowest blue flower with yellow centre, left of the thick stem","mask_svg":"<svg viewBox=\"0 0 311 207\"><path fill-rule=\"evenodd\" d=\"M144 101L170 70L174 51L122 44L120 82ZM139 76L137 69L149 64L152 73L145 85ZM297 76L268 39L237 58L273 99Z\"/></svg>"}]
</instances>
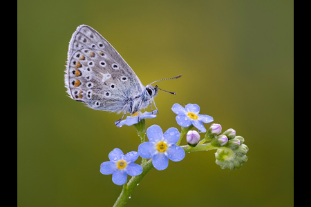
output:
<instances>
[{"instance_id":1,"label":"lowest blue flower with yellow centre, left of the thick stem","mask_svg":"<svg viewBox=\"0 0 311 207\"><path fill-rule=\"evenodd\" d=\"M122 150L115 148L109 153L110 161L100 165L100 172L104 175L113 175L113 183L123 185L126 183L127 175L136 176L142 173L142 166L135 164L138 152L132 151L123 155Z\"/></svg>"}]
</instances>

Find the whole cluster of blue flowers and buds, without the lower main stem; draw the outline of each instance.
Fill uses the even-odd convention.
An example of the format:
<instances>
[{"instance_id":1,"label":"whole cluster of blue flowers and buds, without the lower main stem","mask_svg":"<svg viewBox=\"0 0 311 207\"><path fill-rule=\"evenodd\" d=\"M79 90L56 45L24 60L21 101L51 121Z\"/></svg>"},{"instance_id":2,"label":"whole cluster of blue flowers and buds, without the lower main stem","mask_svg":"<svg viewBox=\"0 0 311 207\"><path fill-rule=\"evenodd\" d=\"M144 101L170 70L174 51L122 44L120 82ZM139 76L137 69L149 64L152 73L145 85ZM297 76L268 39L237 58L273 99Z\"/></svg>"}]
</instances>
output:
<instances>
[{"instance_id":1,"label":"whole cluster of blue flowers and buds, without the lower main stem","mask_svg":"<svg viewBox=\"0 0 311 207\"><path fill-rule=\"evenodd\" d=\"M141 137L142 144L138 146L138 152L132 151L123 154L122 150L115 148L109 153L109 160L100 166L100 172L104 175L113 175L113 183L117 185L126 184L127 175L140 175L144 168L144 163L152 161L152 166L157 170L164 170L169 166L169 160L181 161L185 158L186 151L193 152L196 150L209 150L210 148L218 149L215 153L216 164L221 168L241 168L243 163L247 161L246 152L248 147L243 144L244 139L236 136L233 129L226 130L221 133L220 124L211 124L208 130L205 129L203 123L210 123L214 119L208 115L200 115L200 107L197 104L187 104L182 107L175 103L171 108L176 113L177 124L181 126L180 132L177 128L169 128L163 132L158 125L153 125L145 130L144 119L152 119L156 117L156 112L137 112L134 115L126 117L122 121L116 121L118 127L134 125ZM198 129L190 130L192 127ZM206 132L204 139L200 140L199 132ZM145 134L149 141L145 141ZM182 137L187 134L188 146L179 146ZM204 144L209 141L209 143ZM142 164L135 164L134 161L138 157L142 157Z\"/></svg>"}]
</instances>

